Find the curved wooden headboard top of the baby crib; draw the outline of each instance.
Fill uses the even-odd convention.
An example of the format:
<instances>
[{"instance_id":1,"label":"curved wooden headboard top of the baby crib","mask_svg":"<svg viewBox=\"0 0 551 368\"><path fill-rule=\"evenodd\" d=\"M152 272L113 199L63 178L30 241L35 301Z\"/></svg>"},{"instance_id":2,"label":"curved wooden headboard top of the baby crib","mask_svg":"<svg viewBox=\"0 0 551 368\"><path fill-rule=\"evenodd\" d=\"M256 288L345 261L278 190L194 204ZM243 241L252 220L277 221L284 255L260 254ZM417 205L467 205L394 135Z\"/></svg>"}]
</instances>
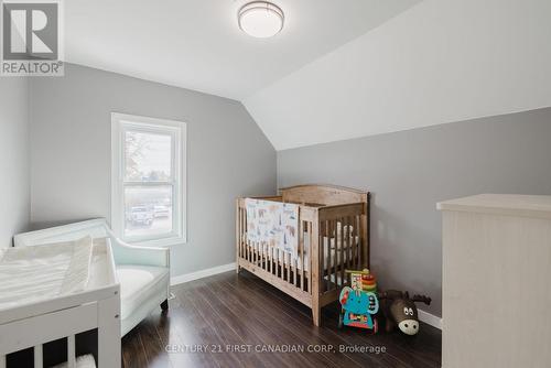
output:
<instances>
[{"instance_id":1,"label":"curved wooden headboard top of the baby crib","mask_svg":"<svg viewBox=\"0 0 551 368\"><path fill-rule=\"evenodd\" d=\"M326 206L367 203L369 192L327 184L304 184L280 188L283 202L318 203Z\"/></svg>"}]
</instances>

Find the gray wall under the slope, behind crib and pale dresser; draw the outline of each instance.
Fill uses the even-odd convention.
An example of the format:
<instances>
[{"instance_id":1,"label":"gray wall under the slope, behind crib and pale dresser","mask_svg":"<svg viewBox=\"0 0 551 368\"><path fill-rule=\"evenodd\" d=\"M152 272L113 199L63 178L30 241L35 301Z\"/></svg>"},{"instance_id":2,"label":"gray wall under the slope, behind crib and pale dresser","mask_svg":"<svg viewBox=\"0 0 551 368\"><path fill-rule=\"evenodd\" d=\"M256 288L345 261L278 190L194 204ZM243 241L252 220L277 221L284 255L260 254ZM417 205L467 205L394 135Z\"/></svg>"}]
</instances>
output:
<instances>
[{"instance_id":1,"label":"gray wall under the slope, behind crib and pale dresser","mask_svg":"<svg viewBox=\"0 0 551 368\"><path fill-rule=\"evenodd\" d=\"M422 309L441 315L436 202L551 194L551 109L278 152L280 187L310 182L371 191L371 263L381 286L426 293L434 303Z\"/></svg>"}]
</instances>

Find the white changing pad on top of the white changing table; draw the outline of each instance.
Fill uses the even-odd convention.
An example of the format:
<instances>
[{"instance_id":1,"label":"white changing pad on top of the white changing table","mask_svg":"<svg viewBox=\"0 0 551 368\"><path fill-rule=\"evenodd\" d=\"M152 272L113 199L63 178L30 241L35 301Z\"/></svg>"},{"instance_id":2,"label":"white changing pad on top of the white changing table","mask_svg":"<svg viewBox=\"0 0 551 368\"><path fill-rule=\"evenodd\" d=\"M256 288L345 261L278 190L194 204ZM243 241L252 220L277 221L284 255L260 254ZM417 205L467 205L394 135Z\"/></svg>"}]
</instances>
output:
<instances>
[{"instance_id":1,"label":"white changing pad on top of the white changing table","mask_svg":"<svg viewBox=\"0 0 551 368\"><path fill-rule=\"evenodd\" d=\"M85 290L91 238L0 249L0 311Z\"/></svg>"}]
</instances>

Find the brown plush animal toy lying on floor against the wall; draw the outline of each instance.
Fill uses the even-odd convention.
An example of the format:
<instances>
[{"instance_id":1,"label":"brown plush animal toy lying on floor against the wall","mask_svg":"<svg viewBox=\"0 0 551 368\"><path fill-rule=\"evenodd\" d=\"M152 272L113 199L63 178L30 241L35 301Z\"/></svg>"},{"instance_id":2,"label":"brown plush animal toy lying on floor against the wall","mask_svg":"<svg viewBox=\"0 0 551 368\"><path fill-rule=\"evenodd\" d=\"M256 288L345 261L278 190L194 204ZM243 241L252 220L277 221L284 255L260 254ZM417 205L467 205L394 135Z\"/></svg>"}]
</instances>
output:
<instances>
[{"instance_id":1,"label":"brown plush animal toy lying on floor against the wall","mask_svg":"<svg viewBox=\"0 0 551 368\"><path fill-rule=\"evenodd\" d=\"M386 331L398 328L406 335L415 335L419 332L419 316L415 302L431 304L431 299L424 295L413 295L408 292L388 290L379 293L379 301L386 320Z\"/></svg>"}]
</instances>

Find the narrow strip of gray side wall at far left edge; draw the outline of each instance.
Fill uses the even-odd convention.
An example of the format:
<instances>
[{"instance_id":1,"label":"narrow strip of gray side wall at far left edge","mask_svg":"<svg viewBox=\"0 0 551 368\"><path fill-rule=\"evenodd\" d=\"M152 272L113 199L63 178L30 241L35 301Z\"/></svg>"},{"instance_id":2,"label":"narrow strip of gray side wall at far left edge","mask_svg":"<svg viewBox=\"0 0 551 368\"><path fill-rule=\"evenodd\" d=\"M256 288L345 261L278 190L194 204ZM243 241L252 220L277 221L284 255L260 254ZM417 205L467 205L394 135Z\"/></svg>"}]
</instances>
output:
<instances>
[{"instance_id":1,"label":"narrow strip of gray side wall at far left edge","mask_svg":"<svg viewBox=\"0 0 551 368\"><path fill-rule=\"evenodd\" d=\"M29 225L29 80L0 80L0 247Z\"/></svg>"}]
</instances>

